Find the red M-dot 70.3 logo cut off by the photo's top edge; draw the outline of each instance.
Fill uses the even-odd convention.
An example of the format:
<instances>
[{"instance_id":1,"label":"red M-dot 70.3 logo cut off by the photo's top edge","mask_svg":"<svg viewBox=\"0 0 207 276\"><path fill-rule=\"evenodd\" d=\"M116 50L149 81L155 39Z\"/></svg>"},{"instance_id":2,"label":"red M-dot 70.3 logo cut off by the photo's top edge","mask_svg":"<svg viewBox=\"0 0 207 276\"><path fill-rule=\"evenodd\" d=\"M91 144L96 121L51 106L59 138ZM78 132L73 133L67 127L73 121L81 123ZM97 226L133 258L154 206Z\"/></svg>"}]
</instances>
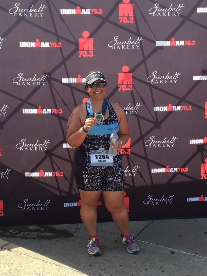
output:
<instances>
[{"instance_id":1,"label":"red M-dot 70.3 logo cut off by the photo's top edge","mask_svg":"<svg viewBox=\"0 0 207 276\"><path fill-rule=\"evenodd\" d=\"M123 0L124 4L119 4L119 23L134 23L134 4L130 0Z\"/></svg>"}]
</instances>

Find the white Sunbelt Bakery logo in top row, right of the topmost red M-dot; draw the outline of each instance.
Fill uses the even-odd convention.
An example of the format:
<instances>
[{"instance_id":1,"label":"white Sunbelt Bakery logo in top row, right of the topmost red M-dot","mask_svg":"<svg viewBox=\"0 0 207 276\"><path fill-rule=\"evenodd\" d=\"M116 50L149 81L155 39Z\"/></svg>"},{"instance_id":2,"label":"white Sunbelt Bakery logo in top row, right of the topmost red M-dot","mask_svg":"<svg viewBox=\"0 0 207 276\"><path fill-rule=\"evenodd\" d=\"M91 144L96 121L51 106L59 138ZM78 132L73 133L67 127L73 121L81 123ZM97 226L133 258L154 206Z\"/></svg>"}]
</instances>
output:
<instances>
[{"instance_id":1,"label":"white Sunbelt Bakery logo in top row, right of the topmost red M-dot","mask_svg":"<svg viewBox=\"0 0 207 276\"><path fill-rule=\"evenodd\" d=\"M155 3L148 13L152 16L180 16L183 7L185 7L183 4L179 4L176 7L171 4L169 8L163 8L162 4Z\"/></svg>"}]
</instances>

